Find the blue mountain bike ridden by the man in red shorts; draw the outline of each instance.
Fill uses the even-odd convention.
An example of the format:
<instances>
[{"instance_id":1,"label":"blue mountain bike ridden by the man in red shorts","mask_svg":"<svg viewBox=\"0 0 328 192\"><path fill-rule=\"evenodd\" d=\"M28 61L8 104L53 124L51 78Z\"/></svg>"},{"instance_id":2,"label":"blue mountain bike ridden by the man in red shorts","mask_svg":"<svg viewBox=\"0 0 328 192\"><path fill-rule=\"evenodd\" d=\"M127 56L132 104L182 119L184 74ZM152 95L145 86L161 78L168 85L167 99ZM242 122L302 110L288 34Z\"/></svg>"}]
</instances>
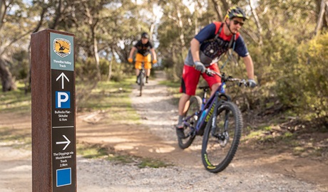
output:
<instances>
[{"instance_id":1,"label":"blue mountain bike ridden by the man in red shorts","mask_svg":"<svg viewBox=\"0 0 328 192\"><path fill-rule=\"evenodd\" d=\"M203 165L207 171L218 173L235 156L242 132L242 114L230 96L225 94L226 82L238 82L240 86L247 86L247 82L209 69L205 73L219 75L222 84L208 100L209 86L199 87L203 90L203 98L198 95L190 97L183 119L185 137L178 137L178 144L181 149L186 149L193 143L196 135L203 136Z\"/></svg>"}]
</instances>

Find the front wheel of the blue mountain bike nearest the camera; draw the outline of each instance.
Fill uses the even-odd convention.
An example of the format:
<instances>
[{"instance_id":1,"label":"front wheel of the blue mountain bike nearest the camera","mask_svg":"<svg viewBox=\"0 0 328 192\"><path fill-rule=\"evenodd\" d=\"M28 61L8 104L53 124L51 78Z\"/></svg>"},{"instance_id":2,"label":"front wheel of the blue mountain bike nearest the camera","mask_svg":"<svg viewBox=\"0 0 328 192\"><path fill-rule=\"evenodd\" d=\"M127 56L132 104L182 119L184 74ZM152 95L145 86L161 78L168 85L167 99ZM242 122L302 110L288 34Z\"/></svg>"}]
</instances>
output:
<instances>
[{"instance_id":1,"label":"front wheel of the blue mountain bike nearest the camera","mask_svg":"<svg viewBox=\"0 0 328 192\"><path fill-rule=\"evenodd\" d=\"M205 127L202 160L207 171L218 173L235 156L242 132L242 114L237 105L224 102L217 107L216 128L211 124L212 118Z\"/></svg>"}]
</instances>

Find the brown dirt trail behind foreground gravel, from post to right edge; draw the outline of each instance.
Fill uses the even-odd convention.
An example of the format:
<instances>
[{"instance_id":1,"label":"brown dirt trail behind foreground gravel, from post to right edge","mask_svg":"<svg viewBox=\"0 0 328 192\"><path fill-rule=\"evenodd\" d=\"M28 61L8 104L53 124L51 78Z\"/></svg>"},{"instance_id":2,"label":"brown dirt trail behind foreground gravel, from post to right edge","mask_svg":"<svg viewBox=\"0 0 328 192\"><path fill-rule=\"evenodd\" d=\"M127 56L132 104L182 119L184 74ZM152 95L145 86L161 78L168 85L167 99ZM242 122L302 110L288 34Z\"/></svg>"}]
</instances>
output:
<instances>
[{"instance_id":1,"label":"brown dirt trail behind foreground gravel, from post to right edge","mask_svg":"<svg viewBox=\"0 0 328 192\"><path fill-rule=\"evenodd\" d=\"M200 156L202 137L196 137L188 149L180 149L175 135L174 124L177 122L177 106L170 104L171 96L164 85L159 85L165 76L156 73L156 79L150 80L139 96L138 86L134 85L132 94L133 107L140 114L141 124L117 124L108 127L98 122L93 129L86 130L86 141L101 142L116 150L130 154L152 157L171 162L178 166L192 169L204 169ZM78 139L84 128L78 124ZM106 133L106 134L103 134ZM90 135L97 134L94 139ZM118 137L119 136L119 137ZM290 176L310 183L317 183L328 191L328 162L317 159L301 158L280 149L253 149L241 144L235 158L226 172L245 171L267 172Z\"/></svg>"}]
</instances>

